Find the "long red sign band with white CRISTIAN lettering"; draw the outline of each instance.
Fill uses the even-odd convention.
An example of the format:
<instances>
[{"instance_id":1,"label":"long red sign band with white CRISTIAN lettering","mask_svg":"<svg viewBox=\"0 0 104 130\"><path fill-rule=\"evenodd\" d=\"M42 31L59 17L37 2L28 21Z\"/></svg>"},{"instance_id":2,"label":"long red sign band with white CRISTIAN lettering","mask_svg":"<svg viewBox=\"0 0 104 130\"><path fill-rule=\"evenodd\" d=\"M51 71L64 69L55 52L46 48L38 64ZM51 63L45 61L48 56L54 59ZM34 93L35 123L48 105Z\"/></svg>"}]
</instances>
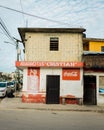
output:
<instances>
[{"instance_id":1,"label":"long red sign band with white CRISTIAN lettering","mask_svg":"<svg viewBox=\"0 0 104 130\"><path fill-rule=\"evenodd\" d=\"M68 67L81 68L83 62L16 61L16 67Z\"/></svg>"}]
</instances>

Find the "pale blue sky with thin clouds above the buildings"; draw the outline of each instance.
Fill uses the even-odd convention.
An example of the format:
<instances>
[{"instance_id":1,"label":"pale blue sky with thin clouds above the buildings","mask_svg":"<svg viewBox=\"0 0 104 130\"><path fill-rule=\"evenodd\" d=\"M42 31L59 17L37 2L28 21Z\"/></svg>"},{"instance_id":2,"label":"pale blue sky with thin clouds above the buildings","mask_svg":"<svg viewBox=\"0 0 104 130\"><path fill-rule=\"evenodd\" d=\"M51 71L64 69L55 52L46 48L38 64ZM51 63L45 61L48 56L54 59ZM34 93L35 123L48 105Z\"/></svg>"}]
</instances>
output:
<instances>
[{"instance_id":1,"label":"pale blue sky with thin clouds above the buildings","mask_svg":"<svg viewBox=\"0 0 104 130\"><path fill-rule=\"evenodd\" d=\"M0 20L9 35L19 40L19 27L82 27L86 37L104 39L104 0L2 0ZM0 72L16 70L14 41L0 24ZM22 43L19 48L20 60L24 60Z\"/></svg>"}]
</instances>

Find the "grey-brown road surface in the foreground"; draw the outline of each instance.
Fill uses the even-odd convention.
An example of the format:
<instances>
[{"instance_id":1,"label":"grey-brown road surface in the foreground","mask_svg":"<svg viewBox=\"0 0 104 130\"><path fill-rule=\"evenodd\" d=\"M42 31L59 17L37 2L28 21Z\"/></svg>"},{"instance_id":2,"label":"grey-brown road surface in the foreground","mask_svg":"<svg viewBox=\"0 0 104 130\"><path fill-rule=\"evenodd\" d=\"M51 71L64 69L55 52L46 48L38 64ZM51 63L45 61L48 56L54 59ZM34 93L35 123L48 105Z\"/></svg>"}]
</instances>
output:
<instances>
[{"instance_id":1,"label":"grey-brown road surface in the foreground","mask_svg":"<svg viewBox=\"0 0 104 130\"><path fill-rule=\"evenodd\" d=\"M104 113L4 109L0 130L104 130Z\"/></svg>"}]
</instances>

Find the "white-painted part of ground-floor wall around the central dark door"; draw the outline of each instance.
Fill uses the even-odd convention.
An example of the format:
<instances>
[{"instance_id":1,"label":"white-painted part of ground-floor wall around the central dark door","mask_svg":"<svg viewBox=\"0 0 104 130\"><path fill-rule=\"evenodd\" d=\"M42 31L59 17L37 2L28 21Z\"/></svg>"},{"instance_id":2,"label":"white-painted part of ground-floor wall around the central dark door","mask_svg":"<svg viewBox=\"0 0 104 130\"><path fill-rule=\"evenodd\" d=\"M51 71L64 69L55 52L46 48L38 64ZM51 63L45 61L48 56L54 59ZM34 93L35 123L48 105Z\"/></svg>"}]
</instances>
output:
<instances>
[{"instance_id":1,"label":"white-painted part of ground-floor wall around the central dark door","mask_svg":"<svg viewBox=\"0 0 104 130\"><path fill-rule=\"evenodd\" d=\"M40 87L39 92L46 94L46 75L60 75L60 96L72 95L77 98L83 98L83 70L80 69L80 80L62 80L61 68L41 68L40 69ZM30 93L27 90L27 69L24 69L23 92ZM34 92L32 92L34 93Z\"/></svg>"}]
</instances>

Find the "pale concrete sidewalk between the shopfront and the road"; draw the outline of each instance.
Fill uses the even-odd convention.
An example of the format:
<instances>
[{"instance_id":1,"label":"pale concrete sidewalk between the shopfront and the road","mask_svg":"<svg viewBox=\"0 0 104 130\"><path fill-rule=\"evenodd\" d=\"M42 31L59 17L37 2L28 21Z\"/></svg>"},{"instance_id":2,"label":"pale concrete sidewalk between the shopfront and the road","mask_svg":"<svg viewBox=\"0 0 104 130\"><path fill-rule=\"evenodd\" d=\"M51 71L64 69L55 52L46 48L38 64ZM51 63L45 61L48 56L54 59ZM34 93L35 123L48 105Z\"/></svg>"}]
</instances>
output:
<instances>
[{"instance_id":1,"label":"pale concrete sidewalk between the shopfront and the road","mask_svg":"<svg viewBox=\"0 0 104 130\"><path fill-rule=\"evenodd\" d=\"M20 97L4 98L0 103L0 109L34 109L50 111L90 111L103 112L104 106L95 105L71 105L71 104L42 104L42 103L22 103Z\"/></svg>"}]
</instances>

